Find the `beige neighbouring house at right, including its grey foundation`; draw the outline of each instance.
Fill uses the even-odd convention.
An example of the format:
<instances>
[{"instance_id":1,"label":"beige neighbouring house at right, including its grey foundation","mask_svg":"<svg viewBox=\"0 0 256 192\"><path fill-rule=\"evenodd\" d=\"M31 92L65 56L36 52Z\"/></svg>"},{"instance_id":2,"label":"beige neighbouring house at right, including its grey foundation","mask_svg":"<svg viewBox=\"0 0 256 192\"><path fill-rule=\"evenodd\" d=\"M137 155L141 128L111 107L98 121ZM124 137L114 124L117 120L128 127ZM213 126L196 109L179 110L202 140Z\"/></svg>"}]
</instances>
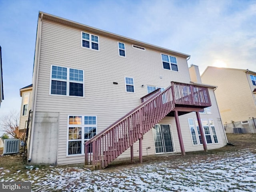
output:
<instances>
[{"instance_id":1,"label":"beige neighbouring house at right, including its grey foundation","mask_svg":"<svg viewBox=\"0 0 256 192\"><path fill-rule=\"evenodd\" d=\"M256 133L256 72L208 66L202 82L215 90L227 133Z\"/></svg>"}]
</instances>

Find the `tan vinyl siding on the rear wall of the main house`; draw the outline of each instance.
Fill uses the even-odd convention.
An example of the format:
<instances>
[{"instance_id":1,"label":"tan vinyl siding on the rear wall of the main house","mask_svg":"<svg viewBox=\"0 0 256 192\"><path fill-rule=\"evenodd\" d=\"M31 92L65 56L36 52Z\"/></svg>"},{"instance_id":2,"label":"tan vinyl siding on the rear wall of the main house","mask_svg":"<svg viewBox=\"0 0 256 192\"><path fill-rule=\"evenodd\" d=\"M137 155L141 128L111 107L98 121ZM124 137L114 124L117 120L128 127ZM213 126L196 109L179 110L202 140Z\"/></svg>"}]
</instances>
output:
<instances>
[{"instance_id":1,"label":"tan vinyl siding on the rear wall of the main house","mask_svg":"<svg viewBox=\"0 0 256 192\"><path fill-rule=\"evenodd\" d=\"M141 51L123 42L126 57L120 57L117 42L99 36L98 51L84 48L81 47L81 30L43 20L36 112L60 114L58 164L84 162L84 155L67 156L68 115L97 116L97 132L100 132L140 104L140 97L147 94L147 87L142 87L142 84L167 88L171 81L190 82L185 58L176 56L178 72L164 70L161 53L167 53L149 48ZM51 65L84 70L84 97L50 95ZM134 78L135 93L126 93L125 77ZM186 138L185 149L200 150L201 146L190 148L192 141L189 129L186 130L187 118L181 117L180 121ZM176 152L180 152L174 118L166 117L162 122L171 124ZM146 147L149 146L148 155L155 154L152 130L144 135L143 155L146 155ZM134 156L138 156L138 142L134 144ZM120 157L130 157L130 150Z\"/></svg>"}]
</instances>

